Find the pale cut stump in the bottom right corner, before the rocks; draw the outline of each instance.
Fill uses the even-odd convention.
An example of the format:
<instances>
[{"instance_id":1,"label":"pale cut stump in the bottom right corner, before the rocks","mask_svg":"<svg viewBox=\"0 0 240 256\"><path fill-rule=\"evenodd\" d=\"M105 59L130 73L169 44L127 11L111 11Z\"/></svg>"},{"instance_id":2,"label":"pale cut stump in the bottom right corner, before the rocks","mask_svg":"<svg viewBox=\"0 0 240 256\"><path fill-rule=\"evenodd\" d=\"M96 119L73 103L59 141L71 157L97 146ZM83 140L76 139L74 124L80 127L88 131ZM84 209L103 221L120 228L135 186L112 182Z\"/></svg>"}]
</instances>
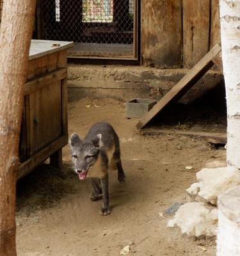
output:
<instances>
[{"instance_id":1,"label":"pale cut stump in the bottom right corner, before the rocks","mask_svg":"<svg viewBox=\"0 0 240 256\"><path fill-rule=\"evenodd\" d=\"M240 186L218 199L217 256L240 255Z\"/></svg>"}]
</instances>

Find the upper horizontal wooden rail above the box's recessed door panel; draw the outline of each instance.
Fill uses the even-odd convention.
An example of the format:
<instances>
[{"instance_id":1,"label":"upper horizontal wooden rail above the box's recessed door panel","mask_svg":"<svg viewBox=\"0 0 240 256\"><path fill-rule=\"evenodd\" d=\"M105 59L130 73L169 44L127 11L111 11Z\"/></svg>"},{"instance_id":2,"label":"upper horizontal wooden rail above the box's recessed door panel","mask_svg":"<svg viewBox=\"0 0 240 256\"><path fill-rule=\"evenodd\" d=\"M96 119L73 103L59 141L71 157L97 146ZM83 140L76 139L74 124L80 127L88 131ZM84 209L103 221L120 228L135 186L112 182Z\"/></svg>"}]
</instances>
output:
<instances>
[{"instance_id":1,"label":"upper horizontal wooden rail above the box's recessed door panel","mask_svg":"<svg viewBox=\"0 0 240 256\"><path fill-rule=\"evenodd\" d=\"M37 90L40 90L41 88L44 88L45 86L51 86L51 84L54 84L56 83L56 81L60 81L65 77L67 77L67 68L60 68L56 71L44 74L43 76L40 76L37 79L28 81L25 84L24 95L33 93Z\"/></svg>"}]
</instances>

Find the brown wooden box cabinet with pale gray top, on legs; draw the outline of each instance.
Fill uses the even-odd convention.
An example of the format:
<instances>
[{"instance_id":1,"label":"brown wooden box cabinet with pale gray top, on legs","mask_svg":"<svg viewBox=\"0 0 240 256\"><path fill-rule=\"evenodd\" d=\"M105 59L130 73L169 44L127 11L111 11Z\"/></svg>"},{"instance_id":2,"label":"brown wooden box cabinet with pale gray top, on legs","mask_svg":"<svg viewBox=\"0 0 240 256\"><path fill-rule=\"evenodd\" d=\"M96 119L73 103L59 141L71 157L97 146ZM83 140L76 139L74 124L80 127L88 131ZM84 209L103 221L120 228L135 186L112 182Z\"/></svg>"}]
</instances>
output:
<instances>
[{"instance_id":1,"label":"brown wooden box cabinet with pale gray top, on legs","mask_svg":"<svg viewBox=\"0 0 240 256\"><path fill-rule=\"evenodd\" d=\"M19 179L50 157L61 166L67 132L67 48L70 42L32 40L19 142Z\"/></svg>"}]
</instances>

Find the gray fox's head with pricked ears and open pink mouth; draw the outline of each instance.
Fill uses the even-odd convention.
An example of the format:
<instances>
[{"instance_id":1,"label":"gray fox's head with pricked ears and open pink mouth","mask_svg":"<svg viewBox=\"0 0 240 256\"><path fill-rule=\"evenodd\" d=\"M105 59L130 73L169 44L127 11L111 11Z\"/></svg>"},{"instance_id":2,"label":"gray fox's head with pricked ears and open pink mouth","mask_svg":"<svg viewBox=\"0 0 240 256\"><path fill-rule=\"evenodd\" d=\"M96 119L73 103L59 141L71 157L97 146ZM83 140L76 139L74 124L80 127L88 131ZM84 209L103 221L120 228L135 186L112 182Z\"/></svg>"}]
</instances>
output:
<instances>
[{"instance_id":1,"label":"gray fox's head with pricked ears and open pink mouth","mask_svg":"<svg viewBox=\"0 0 240 256\"><path fill-rule=\"evenodd\" d=\"M81 140L77 133L70 136L72 162L80 180L86 178L88 170L96 163L99 157L101 138L101 134L97 134L93 140Z\"/></svg>"}]
</instances>

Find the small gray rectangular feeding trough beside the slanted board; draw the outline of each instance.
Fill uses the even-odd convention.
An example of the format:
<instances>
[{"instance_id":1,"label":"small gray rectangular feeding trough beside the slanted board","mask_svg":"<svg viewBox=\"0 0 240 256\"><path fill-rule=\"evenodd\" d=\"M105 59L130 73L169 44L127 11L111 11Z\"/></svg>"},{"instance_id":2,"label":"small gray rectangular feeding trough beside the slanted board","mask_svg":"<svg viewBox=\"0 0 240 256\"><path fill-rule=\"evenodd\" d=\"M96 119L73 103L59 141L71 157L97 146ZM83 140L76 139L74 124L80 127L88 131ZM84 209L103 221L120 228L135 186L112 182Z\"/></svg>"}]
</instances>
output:
<instances>
[{"instance_id":1,"label":"small gray rectangular feeding trough beside the slanted board","mask_svg":"<svg viewBox=\"0 0 240 256\"><path fill-rule=\"evenodd\" d=\"M126 117L127 118L141 118L144 116L155 104L157 100L154 99L132 99L126 103Z\"/></svg>"}]
</instances>

